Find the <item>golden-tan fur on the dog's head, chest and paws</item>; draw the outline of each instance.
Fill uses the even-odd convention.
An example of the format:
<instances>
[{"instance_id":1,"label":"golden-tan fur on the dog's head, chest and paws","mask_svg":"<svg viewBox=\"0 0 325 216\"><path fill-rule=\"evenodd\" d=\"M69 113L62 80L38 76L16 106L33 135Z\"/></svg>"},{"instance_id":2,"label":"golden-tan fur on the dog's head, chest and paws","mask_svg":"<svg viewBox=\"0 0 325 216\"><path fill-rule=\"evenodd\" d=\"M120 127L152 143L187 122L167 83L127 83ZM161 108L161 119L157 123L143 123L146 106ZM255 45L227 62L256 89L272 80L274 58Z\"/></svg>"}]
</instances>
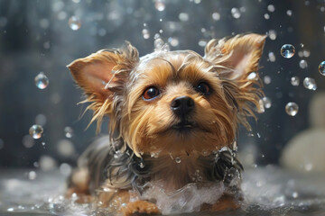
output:
<instances>
[{"instance_id":1,"label":"golden-tan fur on the dog's head, chest and paws","mask_svg":"<svg viewBox=\"0 0 325 216\"><path fill-rule=\"evenodd\" d=\"M151 165L151 181L173 191L192 183L194 172L209 168L210 156L218 150L232 147L238 124L250 129L247 117L255 117L263 95L257 69L264 42L264 35L238 35L209 41L204 57L183 50L153 52L143 58L127 42L122 49L100 50L68 67L87 95L83 102L90 103L87 110L94 111L91 122L97 120L99 129L108 115L112 143L120 141L131 148L136 157ZM248 79L252 72L257 77ZM209 95L196 90L201 82L209 85ZM149 86L155 86L160 94L146 101L142 95ZM186 134L172 130L180 119L172 112L171 103L179 96L188 96L195 104L189 116L194 124ZM175 164L176 157L181 164ZM118 167L112 170L118 175ZM209 181L209 177L203 175L200 181ZM103 188L110 192L98 193L100 202L105 206L114 202L125 215L159 212L153 203L130 202L131 193L114 188L111 181ZM210 209L235 206L227 197L220 203Z\"/></svg>"}]
</instances>

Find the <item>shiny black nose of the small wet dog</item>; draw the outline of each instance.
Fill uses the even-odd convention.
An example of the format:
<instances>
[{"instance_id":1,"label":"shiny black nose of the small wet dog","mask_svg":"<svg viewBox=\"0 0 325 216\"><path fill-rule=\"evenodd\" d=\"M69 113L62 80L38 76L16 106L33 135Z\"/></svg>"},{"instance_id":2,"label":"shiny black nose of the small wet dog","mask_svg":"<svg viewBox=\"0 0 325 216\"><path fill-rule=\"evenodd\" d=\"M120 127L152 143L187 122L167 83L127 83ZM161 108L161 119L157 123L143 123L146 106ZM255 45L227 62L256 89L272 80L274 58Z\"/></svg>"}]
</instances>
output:
<instances>
[{"instance_id":1,"label":"shiny black nose of the small wet dog","mask_svg":"<svg viewBox=\"0 0 325 216\"><path fill-rule=\"evenodd\" d=\"M189 96L176 97L171 103L171 108L175 114L185 116L194 109L194 101Z\"/></svg>"}]
</instances>

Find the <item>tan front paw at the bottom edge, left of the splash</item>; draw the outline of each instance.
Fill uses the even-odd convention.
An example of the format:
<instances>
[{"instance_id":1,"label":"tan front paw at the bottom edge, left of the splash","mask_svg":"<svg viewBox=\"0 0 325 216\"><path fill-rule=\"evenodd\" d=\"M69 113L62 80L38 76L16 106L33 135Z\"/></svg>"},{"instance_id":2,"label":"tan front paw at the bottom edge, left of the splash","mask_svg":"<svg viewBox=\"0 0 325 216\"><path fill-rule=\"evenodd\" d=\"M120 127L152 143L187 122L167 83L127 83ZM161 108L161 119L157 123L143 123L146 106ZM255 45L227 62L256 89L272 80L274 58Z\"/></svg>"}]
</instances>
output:
<instances>
[{"instance_id":1,"label":"tan front paw at the bottom edge, left of the splash","mask_svg":"<svg viewBox=\"0 0 325 216\"><path fill-rule=\"evenodd\" d=\"M155 204L146 201L129 202L123 207L122 211L125 216L161 214L161 211L159 211Z\"/></svg>"}]
</instances>

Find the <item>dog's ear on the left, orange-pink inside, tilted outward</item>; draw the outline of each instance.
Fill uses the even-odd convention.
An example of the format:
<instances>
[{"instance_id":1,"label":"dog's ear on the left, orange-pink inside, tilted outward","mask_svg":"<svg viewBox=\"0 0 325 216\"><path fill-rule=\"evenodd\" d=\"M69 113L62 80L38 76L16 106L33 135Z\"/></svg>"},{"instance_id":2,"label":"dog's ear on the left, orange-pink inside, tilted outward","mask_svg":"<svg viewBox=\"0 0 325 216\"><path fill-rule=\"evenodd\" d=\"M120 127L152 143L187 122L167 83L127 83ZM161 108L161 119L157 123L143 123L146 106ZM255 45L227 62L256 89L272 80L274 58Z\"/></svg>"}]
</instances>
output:
<instances>
[{"instance_id":1,"label":"dog's ear on the left, orange-pink inside, tilted outward","mask_svg":"<svg viewBox=\"0 0 325 216\"><path fill-rule=\"evenodd\" d=\"M90 123L98 120L100 126L104 115L113 112L113 96L123 93L129 73L138 61L137 49L126 41L121 49L102 49L67 66L87 95L81 103L89 102L87 110L94 111Z\"/></svg>"}]
</instances>

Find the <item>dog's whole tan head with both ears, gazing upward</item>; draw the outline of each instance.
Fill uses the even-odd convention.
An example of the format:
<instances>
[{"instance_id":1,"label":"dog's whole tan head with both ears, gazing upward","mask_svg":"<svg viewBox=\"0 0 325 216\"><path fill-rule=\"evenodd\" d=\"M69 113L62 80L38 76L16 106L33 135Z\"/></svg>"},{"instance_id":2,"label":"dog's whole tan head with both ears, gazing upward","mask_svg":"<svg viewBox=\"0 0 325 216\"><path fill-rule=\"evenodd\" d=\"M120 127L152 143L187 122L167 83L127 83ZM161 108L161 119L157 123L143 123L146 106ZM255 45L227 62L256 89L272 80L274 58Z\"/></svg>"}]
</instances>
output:
<instances>
[{"instance_id":1,"label":"dog's whole tan head with both ears, gazing upward","mask_svg":"<svg viewBox=\"0 0 325 216\"><path fill-rule=\"evenodd\" d=\"M265 36L211 40L205 56L159 51L138 58L130 44L101 50L69 66L88 95L93 120L110 117L137 156L209 154L230 145L238 123L259 109L256 74Z\"/></svg>"}]
</instances>

